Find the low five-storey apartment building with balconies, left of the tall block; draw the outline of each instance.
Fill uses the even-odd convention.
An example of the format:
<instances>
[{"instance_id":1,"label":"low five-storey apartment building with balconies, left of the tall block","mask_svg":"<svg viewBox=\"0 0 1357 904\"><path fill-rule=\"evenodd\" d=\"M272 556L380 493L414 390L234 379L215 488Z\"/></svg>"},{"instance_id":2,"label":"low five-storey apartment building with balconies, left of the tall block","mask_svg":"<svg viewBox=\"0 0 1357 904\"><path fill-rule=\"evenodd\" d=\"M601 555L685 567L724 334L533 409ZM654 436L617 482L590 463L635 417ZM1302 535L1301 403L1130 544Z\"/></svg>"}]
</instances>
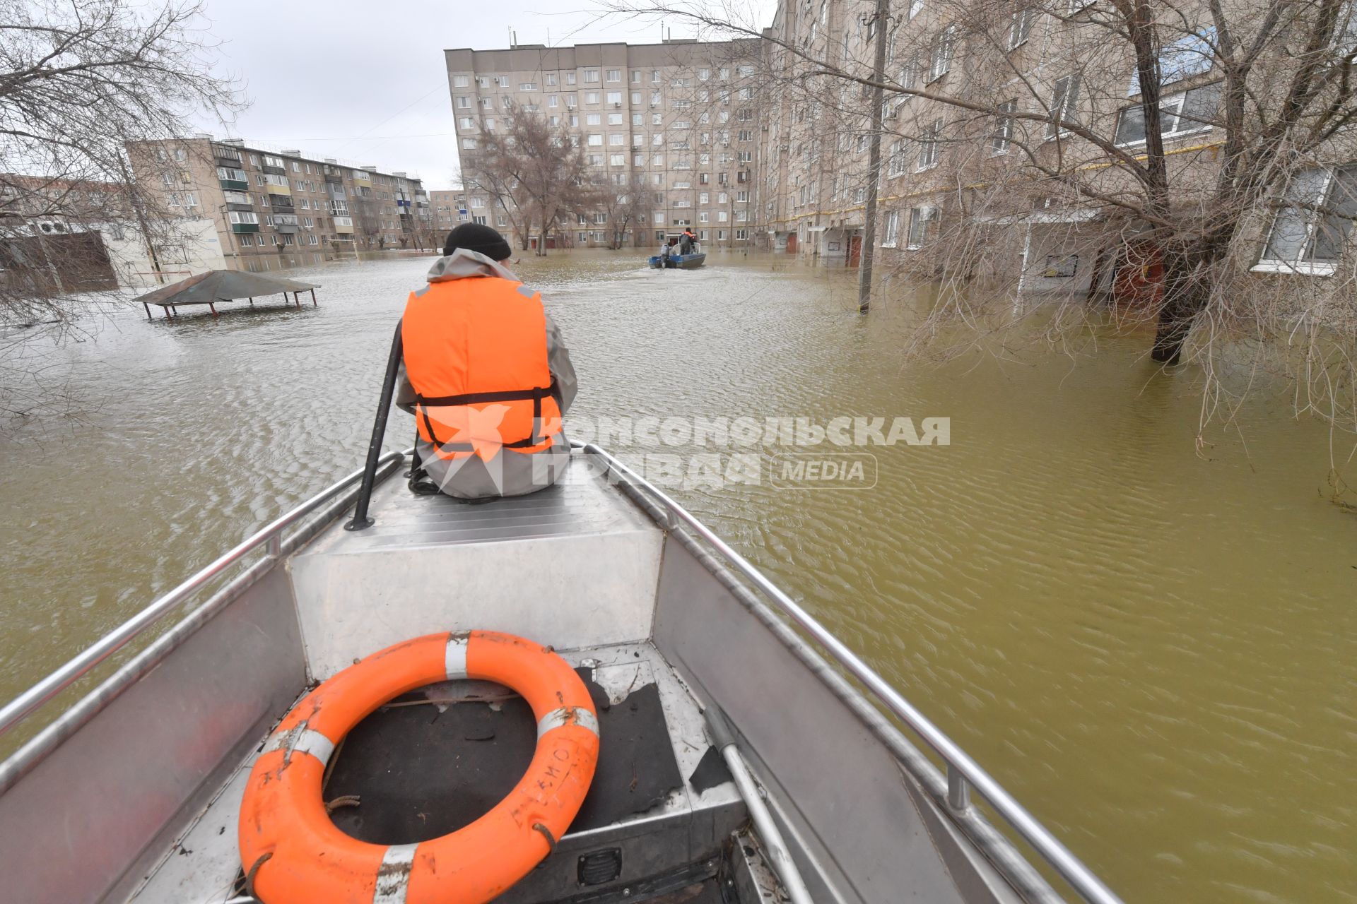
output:
<instances>
[{"instance_id":1,"label":"low five-storey apartment building with balconies, left of the tall block","mask_svg":"<svg viewBox=\"0 0 1357 904\"><path fill-rule=\"evenodd\" d=\"M128 150L167 210L214 222L227 258L430 247L429 195L404 172L208 136Z\"/></svg>"}]
</instances>

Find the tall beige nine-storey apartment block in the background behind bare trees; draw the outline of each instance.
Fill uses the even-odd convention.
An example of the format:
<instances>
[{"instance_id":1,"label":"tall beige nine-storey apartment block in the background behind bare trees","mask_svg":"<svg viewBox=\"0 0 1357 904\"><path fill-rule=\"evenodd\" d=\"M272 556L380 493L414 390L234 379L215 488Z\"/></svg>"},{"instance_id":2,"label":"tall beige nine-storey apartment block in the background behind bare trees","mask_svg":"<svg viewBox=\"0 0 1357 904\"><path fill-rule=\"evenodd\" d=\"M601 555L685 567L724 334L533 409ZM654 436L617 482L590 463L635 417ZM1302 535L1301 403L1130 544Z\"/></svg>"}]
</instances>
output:
<instances>
[{"instance_id":1,"label":"tall beige nine-storey apartment block in the background behind bare trees","mask_svg":"<svg viewBox=\"0 0 1357 904\"><path fill-rule=\"evenodd\" d=\"M708 247L752 245L761 104L759 41L665 41L573 47L517 45L444 52L468 215L513 233L513 217L475 183L474 155L514 112L566 126L588 153L594 182L643 191L647 222L626 244L650 247L691 226ZM608 244L608 214L579 210L556 236Z\"/></svg>"}]
</instances>

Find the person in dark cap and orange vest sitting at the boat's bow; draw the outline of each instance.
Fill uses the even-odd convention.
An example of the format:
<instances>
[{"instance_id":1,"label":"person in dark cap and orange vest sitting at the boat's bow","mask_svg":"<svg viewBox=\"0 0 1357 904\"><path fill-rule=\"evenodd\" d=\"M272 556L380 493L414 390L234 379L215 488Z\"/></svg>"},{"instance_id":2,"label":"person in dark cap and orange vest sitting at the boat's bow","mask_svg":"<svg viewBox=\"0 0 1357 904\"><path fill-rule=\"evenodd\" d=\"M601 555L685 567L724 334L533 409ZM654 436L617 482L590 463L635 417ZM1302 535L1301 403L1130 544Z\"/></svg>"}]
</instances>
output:
<instances>
[{"instance_id":1,"label":"person in dark cap and orange vest sitting at the boat's bow","mask_svg":"<svg viewBox=\"0 0 1357 904\"><path fill-rule=\"evenodd\" d=\"M570 461L560 416L577 390L560 329L505 267L512 251L493 228L461 224L442 255L400 327L396 405L418 431L410 488L489 499L550 487Z\"/></svg>"}]
</instances>

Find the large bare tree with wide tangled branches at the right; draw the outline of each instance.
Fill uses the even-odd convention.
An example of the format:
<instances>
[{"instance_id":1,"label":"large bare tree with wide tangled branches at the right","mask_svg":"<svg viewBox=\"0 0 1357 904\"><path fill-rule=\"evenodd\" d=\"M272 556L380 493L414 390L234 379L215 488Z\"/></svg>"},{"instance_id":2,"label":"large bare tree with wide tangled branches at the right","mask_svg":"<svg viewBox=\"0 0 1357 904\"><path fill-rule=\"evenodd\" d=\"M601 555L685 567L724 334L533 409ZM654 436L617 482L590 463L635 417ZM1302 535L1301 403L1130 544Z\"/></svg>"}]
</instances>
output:
<instances>
[{"instance_id":1,"label":"large bare tree with wide tangled branches at the right","mask_svg":"<svg viewBox=\"0 0 1357 904\"><path fill-rule=\"evenodd\" d=\"M885 22L829 0L771 30L703 0L611 5L764 39L768 194L792 218L881 197L887 268L938 285L921 340L1011 324L1077 256L1090 291L1136 300L1113 316L1152 323L1155 361L1210 373L1251 340L1303 377L1301 408L1352 415L1348 0L894 0Z\"/></svg>"}]
</instances>

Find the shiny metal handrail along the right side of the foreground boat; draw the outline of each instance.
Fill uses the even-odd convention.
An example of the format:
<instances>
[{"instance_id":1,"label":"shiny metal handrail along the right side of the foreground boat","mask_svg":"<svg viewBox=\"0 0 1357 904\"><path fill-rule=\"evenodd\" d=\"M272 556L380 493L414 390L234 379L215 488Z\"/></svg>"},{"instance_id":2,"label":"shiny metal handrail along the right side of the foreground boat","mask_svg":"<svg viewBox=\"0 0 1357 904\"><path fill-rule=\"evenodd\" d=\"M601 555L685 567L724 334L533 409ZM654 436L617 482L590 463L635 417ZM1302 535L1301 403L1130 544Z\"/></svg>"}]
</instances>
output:
<instances>
[{"instance_id":1,"label":"shiny metal handrail along the right side of the foreground boat","mask_svg":"<svg viewBox=\"0 0 1357 904\"><path fill-rule=\"evenodd\" d=\"M647 481L645 477L631 470L627 465L600 449L594 443L571 443L582 449L586 454L597 455L611 470L626 477L632 485L643 488L661 506L668 510L670 518L676 518L691 527L697 535L706 539L712 549L721 553L726 561L735 567L745 577L754 583L769 599L772 599L787 617L813 637L829 655L854 678L866 684L871 693L897 718L906 724L919 737L921 737L947 763L949 800L955 801L958 808L966 806L966 785L969 782L989 802L996 813L1014 828L1018 835L1031 844L1031 847L1046 859L1048 863L1069 882L1084 900L1092 904L1122 904L1121 899L1107 888L1092 870L1073 855L1060 839L1052 835L1037 817L1006 792L1003 786L987 773L980 763L970 758L966 751L947 737L940 728L919 712L913 703L906 701L900 691L890 686L886 679L875 672L856 653L854 653L841 640L835 637L828 628L816 621L791 596L768 580L763 572L754 568L744 556L731 549L721 537L711 531L687 508L670 499L662 489ZM605 473L607 477L607 473Z\"/></svg>"}]
</instances>

